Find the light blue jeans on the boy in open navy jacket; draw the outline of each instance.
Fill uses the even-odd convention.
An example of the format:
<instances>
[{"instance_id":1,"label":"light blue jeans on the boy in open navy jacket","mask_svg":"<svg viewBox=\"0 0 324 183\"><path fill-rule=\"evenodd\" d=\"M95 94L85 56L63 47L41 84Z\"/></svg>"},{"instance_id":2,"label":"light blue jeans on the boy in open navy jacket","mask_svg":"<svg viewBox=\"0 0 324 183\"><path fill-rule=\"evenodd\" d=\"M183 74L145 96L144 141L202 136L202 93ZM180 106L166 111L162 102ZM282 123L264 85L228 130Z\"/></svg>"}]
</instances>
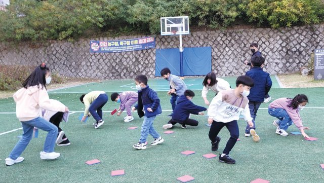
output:
<instances>
[{"instance_id":1,"label":"light blue jeans on the boy in open navy jacket","mask_svg":"<svg viewBox=\"0 0 324 183\"><path fill-rule=\"evenodd\" d=\"M152 116L150 118L147 118L144 116L144 121L142 124L142 129L141 129L141 138L139 140L140 143L145 143L147 135L150 134L153 136L153 138L158 138L160 135L155 131L153 127L153 121L156 116Z\"/></svg>"}]
</instances>

